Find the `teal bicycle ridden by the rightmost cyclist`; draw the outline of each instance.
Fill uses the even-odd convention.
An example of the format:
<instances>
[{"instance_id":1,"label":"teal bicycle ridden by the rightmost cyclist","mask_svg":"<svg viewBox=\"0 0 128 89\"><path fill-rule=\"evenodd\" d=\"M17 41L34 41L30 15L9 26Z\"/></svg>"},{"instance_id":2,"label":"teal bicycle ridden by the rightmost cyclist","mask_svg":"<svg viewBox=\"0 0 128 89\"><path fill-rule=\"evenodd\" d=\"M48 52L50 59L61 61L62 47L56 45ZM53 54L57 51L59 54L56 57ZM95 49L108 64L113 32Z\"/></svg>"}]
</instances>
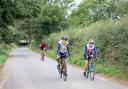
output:
<instances>
[{"instance_id":1,"label":"teal bicycle ridden by the rightmost cyclist","mask_svg":"<svg viewBox=\"0 0 128 89\"><path fill-rule=\"evenodd\" d=\"M90 75L90 79L93 81L95 77L94 64L93 64L93 55L90 55L90 59L88 60L88 67L86 70L86 78Z\"/></svg>"}]
</instances>

